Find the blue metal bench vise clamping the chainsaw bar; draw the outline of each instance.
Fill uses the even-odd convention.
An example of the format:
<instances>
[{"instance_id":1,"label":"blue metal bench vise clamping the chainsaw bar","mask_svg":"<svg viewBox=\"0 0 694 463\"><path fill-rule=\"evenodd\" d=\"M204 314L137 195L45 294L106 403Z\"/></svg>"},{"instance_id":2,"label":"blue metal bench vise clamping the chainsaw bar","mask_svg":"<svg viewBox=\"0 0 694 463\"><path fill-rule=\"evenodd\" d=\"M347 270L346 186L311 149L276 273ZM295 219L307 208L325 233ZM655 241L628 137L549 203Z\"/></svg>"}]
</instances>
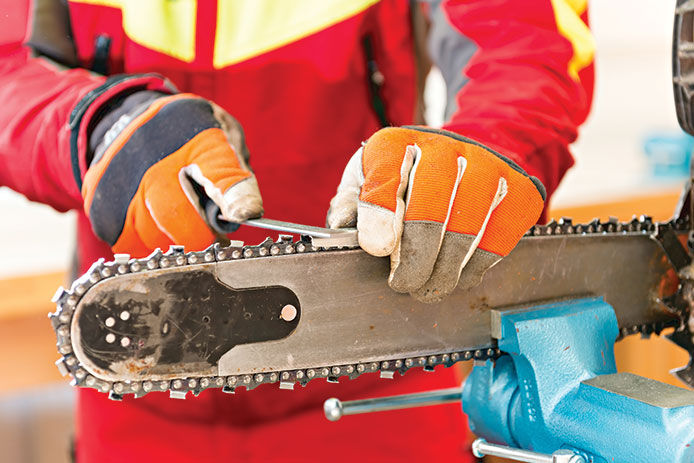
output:
<instances>
[{"instance_id":1,"label":"blue metal bench vise clamping the chainsaw bar","mask_svg":"<svg viewBox=\"0 0 694 463\"><path fill-rule=\"evenodd\" d=\"M617 318L601 298L495 312L492 333L505 355L463 387L478 436L592 463L694 462L694 391L617 373Z\"/></svg>"}]
</instances>

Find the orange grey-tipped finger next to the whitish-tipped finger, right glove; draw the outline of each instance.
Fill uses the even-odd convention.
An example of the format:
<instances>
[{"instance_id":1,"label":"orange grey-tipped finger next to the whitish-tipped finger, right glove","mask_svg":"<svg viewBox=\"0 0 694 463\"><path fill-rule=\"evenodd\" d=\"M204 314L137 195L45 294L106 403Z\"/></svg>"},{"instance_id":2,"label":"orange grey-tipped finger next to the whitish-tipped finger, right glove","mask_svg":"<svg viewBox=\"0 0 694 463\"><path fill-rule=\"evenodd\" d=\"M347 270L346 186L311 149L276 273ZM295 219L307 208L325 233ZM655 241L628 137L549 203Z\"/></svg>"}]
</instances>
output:
<instances>
[{"instance_id":1,"label":"orange grey-tipped finger next to the whitish-tipped finger, right glove","mask_svg":"<svg viewBox=\"0 0 694 463\"><path fill-rule=\"evenodd\" d=\"M402 240L391 255L388 282L399 292L415 291L429 279L465 171L465 159L454 151L424 146L410 175Z\"/></svg>"}]
</instances>

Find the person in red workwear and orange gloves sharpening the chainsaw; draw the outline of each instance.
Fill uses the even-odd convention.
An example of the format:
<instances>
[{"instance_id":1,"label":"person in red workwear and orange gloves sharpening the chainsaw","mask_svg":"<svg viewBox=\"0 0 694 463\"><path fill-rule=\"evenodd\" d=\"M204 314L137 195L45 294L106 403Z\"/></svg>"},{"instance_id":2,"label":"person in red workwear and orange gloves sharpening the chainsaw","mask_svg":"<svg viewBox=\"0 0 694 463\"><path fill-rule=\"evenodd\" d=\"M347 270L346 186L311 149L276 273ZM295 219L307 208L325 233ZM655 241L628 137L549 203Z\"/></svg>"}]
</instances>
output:
<instances>
[{"instance_id":1,"label":"person in red workwear and orange gloves sharpening the chainsaw","mask_svg":"<svg viewBox=\"0 0 694 463\"><path fill-rule=\"evenodd\" d=\"M0 11L0 185L78 211L80 272L114 250L209 245L203 190L237 222L264 211L321 225L334 196L329 224L357 222L361 246L391 256L394 290L438 300L476 284L538 219L591 102L581 0L4 0ZM401 128L423 123L427 56L447 82L446 132ZM259 238L244 228L234 239ZM76 459L472 461L460 407L323 419L328 396L456 381L453 369L372 376L185 401L80 389Z\"/></svg>"}]
</instances>

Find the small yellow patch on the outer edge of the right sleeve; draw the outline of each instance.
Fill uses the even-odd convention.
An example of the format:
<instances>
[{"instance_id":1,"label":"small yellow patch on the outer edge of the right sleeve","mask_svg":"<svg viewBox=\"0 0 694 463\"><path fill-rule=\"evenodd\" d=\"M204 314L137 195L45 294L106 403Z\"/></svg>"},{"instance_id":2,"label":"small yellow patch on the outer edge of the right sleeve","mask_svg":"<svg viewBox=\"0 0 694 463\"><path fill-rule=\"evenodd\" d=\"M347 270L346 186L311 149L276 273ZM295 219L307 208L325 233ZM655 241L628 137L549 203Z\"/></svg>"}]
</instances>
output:
<instances>
[{"instance_id":1,"label":"small yellow patch on the outer edge of the right sleeve","mask_svg":"<svg viewBox=\"0 0 694 463\"><path fill-rule=\"evenodd\" d=\"M595 55L595 40L581 14L586 11L587 0L551 0L554 9L554 19L559 33L564 36L574 49L569 60L568 72L574 80L578 72L593 62Z\"/></svg>"}]
</instances>

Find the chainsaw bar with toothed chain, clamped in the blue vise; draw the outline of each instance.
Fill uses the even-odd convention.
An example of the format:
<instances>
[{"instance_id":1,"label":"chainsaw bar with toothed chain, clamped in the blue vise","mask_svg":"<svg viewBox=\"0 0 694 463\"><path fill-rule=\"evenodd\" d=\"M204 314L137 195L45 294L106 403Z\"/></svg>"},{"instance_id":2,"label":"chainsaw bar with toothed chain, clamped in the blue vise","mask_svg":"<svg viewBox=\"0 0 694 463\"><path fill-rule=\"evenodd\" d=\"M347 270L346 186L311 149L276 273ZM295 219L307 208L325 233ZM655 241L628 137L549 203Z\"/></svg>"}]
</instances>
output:
<instances>
[{"instance_id":1,"label":"chainsaw bar with toothed chain, clamped in the blue vise","mask_svg":"<svg viewBox=\"0 0 694 463\"><path fill-rule=\"evenodd\" d=\"M388 260L359 249L356 230L248 224L283 234L257 246L120 254L59 289L50 319L60 371L112 399L393 378L495 358L494 311L585 295L611 304L620 337L674 328L691 349L686 217L535 226L477 287L436 304L391 290ZM678 375L694 386L691 364Z\"/></svg>"}]
</instances>

